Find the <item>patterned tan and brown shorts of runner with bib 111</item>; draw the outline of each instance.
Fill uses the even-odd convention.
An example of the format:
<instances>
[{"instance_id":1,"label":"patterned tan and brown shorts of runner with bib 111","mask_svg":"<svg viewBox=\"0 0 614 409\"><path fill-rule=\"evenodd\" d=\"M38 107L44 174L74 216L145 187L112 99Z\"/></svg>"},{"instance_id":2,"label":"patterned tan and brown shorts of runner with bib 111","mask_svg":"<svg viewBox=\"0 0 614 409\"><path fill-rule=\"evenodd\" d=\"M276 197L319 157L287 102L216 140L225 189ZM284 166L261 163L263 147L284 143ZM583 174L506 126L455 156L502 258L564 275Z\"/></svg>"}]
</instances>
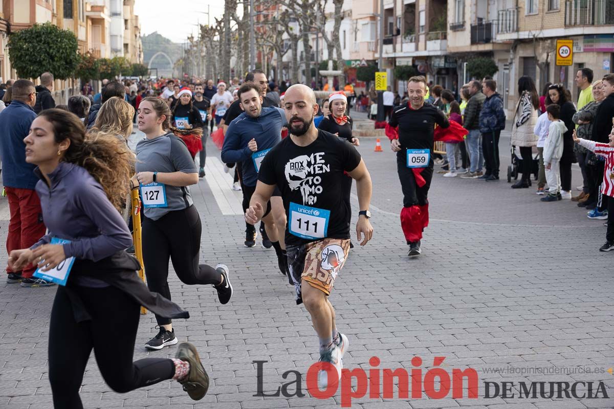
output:
<instances>
[{"instance_id":1,"label":"patterned tan and brown shorts of runner with bib 111","mask_svg":"<svg viewBox=\"0 0 614 409\"><path fill-rule=\"evenodd\" d=\"M300 246L288 246L288 267L296 291L297 304L301 304L301 282L327 296L333 289L335 278L343 268L349 254L349 239L323 239Z\"/></svg>"}]
</instances>

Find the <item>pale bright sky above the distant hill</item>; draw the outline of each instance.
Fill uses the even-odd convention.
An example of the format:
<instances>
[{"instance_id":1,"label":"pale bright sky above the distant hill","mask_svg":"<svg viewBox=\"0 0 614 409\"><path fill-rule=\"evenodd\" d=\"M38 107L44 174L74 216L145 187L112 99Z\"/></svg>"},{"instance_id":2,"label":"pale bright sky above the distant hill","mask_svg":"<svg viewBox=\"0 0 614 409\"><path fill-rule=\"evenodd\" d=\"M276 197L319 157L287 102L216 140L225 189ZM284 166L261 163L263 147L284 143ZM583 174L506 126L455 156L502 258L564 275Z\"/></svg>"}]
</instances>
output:
<instances>
[{"instance_id":1,"label":"pale bright sky above the distant hill","mask_svg":"<svg viewBox=\"0 0 614 409\"><path fill-rule=\"evenodd\" d=\"M157 31L173 42L184 42L190 34L196 35L198 23L207 23L207 6L214 24L214 18L222 18L223 4L221 0L136 0L134 13L142 36Z\"/></svg>"}]
</instances>

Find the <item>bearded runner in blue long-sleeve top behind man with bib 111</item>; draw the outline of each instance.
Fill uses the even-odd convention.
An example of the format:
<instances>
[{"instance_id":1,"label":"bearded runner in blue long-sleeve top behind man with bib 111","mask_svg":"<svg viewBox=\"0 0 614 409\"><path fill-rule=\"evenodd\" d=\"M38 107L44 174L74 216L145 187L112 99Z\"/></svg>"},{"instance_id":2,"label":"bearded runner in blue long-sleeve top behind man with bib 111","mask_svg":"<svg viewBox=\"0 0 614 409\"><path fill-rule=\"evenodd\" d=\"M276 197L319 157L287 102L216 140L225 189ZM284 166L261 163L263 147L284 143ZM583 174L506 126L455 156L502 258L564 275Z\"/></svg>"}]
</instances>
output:
<instances>
[{"instance_id":1,"label":"bearded runner in blue long-sleeve top behind man with bib 111","mask_svg":"<svg viewBox=\"0 0 614 409\"><path fill-rule=\"evenodd\" d=\"M286 114L278 107L262 107L260 89L254 83L245 83L239 88L238 97L244 111L228 126L222 147L222 162L241 162L243 178L243 211L249 207L249 201L256 189L258 170L266 153L281 140L281 128L286 124ZM276 189L268 202L265 215L266 234L273 243L278 256L279 269L287 272L286 245L286 210L281 193ZM255 239L254 227L246 224L246 240Z\"/></svg>"}]
</instances>

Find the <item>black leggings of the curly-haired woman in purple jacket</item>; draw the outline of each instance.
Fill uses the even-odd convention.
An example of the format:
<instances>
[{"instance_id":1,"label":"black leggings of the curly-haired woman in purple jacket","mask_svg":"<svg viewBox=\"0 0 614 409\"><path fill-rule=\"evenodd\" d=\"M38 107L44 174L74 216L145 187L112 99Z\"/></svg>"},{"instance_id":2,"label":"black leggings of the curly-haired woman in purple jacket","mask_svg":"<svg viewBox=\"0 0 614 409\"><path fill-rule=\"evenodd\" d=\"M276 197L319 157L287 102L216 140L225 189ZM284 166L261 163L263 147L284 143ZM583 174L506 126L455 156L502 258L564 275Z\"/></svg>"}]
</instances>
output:
<instances>
[{"instance_id":1,"label":"black leggings of the curly-haired woman in purple jacket","mask_svg":"<svg viewBox=\"0 0 614 409\"><path fill-rule=\"evenodd\" d=\"M93 348L104 381L125 393L173 378L171 359L145 358L133 362L134 341L141 315L139 304L114 287L72 286L90 321L77 323L63 286L53 300L49 323L49 381L56 409L82 409L79 388Z\"/></svg>"}]
</instances>

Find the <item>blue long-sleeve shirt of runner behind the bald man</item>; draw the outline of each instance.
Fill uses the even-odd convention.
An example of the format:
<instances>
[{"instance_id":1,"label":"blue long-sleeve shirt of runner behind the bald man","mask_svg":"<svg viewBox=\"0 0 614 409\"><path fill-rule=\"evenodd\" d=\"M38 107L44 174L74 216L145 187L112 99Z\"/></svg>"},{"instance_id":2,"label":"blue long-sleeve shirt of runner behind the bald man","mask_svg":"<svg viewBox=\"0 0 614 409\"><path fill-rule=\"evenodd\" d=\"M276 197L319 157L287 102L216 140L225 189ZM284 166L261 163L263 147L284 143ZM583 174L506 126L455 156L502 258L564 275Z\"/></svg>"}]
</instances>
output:
<instances>
[{"instance_id":1,"label":"blue long-sleeve shirt of runner behind the bald man","mask_svg":"<svg viewBox=\"0 0 614 409\"><path fill-rule=\"evenodd\" d=\"M243 183L255 186L258 180L252 152L247 143L255 139L258 152L273 148L281 140L281 128L286 124L286 114L278 107L263 108L260 117L252 118L245 112L233 120L226 131L222 147L222 161L241 162Z\"/></svg>"}]
</instances>

